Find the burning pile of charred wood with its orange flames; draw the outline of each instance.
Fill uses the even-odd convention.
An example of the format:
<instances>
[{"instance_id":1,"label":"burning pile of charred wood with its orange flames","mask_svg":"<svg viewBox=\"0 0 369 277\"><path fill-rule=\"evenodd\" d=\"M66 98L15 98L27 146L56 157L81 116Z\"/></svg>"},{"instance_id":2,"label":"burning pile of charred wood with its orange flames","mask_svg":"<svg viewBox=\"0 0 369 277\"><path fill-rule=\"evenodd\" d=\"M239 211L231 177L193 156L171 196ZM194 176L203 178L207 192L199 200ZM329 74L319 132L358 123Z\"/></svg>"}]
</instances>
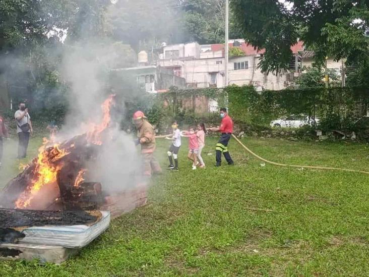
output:
<instances>
[{"instance_id":1,"label":"burning pile of charred wood with its orange flames","mask_svg":"<svg viewBox=\"0 0 369 277\"><path fill-rule=\"evenodd\" d=\"M121 202L122 199L111 200L114 197L104 195L100 183L85 182L85 176L89 172L87 164L98 158L99 148L111 139L108 127L111 123L110 110L113 104L114 95L110 95L102 104L101 123L90 124L88 132L60 143L55 142L54 138L44 139L38 156L1 192L0 207L93 210L101 208L105 198L109 199L108 207ZM122 195L127 198L127 193ZM141 202L138 205L146 203L146 194L143 197L141 193L139 198Z\"/></svg>"}]
</instances>

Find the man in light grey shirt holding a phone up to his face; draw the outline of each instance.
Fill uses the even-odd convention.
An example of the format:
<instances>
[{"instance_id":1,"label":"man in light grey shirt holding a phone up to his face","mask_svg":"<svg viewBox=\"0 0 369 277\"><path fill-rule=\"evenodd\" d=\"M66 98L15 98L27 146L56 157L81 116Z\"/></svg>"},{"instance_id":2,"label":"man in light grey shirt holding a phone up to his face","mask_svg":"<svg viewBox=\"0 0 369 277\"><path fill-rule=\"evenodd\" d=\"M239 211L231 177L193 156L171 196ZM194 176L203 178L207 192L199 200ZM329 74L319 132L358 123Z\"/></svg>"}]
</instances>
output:
<instances>
[{"instance_id":1,"label":"man in light grey shirt holding a phone up to his face","mask_svg":"<svg viewBox=\"0 0 369 277\"><path fill-rule=\"evenodd\" d=\"M19 109L15 112L14 117L17 123L18 158L25 158L27 156L29 136L33 133L33 129L31 117L24 102L19 103Z\"/></svg>"}]
</instances>

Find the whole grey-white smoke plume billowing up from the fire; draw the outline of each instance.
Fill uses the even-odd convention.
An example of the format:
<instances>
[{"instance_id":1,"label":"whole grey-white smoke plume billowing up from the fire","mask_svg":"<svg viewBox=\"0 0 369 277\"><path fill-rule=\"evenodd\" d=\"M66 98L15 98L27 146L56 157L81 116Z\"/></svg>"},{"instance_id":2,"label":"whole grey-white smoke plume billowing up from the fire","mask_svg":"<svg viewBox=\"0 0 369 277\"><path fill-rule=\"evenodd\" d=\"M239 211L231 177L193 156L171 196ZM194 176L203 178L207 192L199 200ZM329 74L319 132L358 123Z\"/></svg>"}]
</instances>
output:
<instances>
[{"instance_id":1,"label":"whole grey-white smoke plume billowing up from the fire","mask_svg":"<svg viewBox=\"0 0 369 277\"><path fill-rule=\"evenodd\" d=\"M140 0L138 4L119 0L112 3L107 9L109 19L106 22L114 26L107 26L107 31L101 26L98 30L93 28L93 24L100 24L103 20L96 16L99 12L96 11L95 14L88 11L86 4L86 7L75 9L76 18L70 19L71 26L65 26L63 44L57 41L56 32L54 42L40 46L37 51L33 51L36 54L32 57L22 61L20 57L23 56L19 54L14 59L17 63L14 63L7 54L6 64L18 65L18 68L12 69L14 74L11 76L12 84L16 84L18 80L24 83L24 89L22 93L18 93L18 98L25 99L32 89L35 106L37 99L43 98L45 107L54 109L57 109L57 104L52 103L53 99L67 98L68 113L56 138L59 142L90 131L90 123L99 124L102 119L101 103L109 94L117 94L111 126L107 130L110 139L100 147L98 159L86 164L88 172L85 176L87 182L101 182L103 190L115 193L131 188L141 181L142 163L132 135L118 127L127 113L132 113L132 110L128 112L126 103L135 103L138 97L135 95L137 90L132 90L134 86L137 88L137 80L135 76L122 76L120 80L119 76L115 76L112 80L111 69L136 66L136 52L143 48L154 48L163 41L171 42L170 37L174 36L173 30L178 29L178 22L173 20L175 16L172 8L176 3L174 0L170 5L167 0ZM154 13L153 7L162 15ZM82 12L82 8L87 10ZM107 34L103 34L102 30ZM50 68L54 71L48 78L54 78L55 84L66 84L66 93L45 86L27 86L28 80L33 80L34 84L42 83L42 70L39 69L44 65L52 65ZM34 74L36 71L33 69L39 70L38 76ZM19 78L22 74L27 75L27 78ZM14 88L11 89L13 93ZM141 97L141 100L143 98ZM50 105L47 106L47 103ZM141 106L145 104L147 107L150 103ZM132 108L132 105L130 107ZM59 118L63 117L64 115L60 114Z\"/></svg>"}]
</instances>

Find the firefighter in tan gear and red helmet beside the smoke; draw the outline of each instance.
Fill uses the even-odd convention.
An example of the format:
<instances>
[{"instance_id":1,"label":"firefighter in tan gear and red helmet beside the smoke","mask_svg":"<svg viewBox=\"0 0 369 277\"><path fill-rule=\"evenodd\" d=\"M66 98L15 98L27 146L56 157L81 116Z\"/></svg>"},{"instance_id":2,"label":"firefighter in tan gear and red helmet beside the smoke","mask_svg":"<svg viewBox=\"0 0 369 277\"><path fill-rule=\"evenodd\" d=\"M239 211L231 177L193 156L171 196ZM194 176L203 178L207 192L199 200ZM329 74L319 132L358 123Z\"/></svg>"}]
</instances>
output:
<instances>
[{"instance_id":1,"label":"firefighter in tan gear and red helmet beside the smoke","mask_svg":"<svg viewBox=\"0 0 369 277\"><path fill-rule=\"evenodd\" d=\"M136 145L141 144L141 154L144 165L144 175L151 176L151 173L161 173L161 168L154 157L156 148L155 131L152 125L146 120L146 117L141 110L133 114L133 123L137 129Z\"/></svg>"}]
</instances>

